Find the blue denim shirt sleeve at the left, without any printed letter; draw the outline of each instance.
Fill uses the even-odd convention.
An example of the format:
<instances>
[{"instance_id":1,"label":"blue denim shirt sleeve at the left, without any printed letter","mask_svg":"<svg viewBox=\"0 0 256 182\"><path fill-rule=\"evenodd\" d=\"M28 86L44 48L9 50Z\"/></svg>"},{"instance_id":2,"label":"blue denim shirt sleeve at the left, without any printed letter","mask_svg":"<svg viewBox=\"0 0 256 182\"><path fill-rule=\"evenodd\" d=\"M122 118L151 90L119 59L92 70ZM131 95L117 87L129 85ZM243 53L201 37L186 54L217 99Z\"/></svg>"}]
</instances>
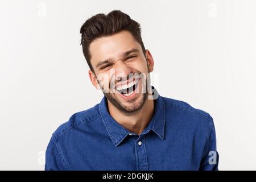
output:
<instances>
[{"instance_id":1,"label":"blue denim shirt sleeve at the left, without any printed letter","mask_svg":"<svg viewBox=\"0 0 256 182\"><path fill-rule=\"evenodd\" d=\"M51 140L46 150L45 171L64 171L65 163L61 155L59 144L56 142L55 135L52 134Z\"/></svg>"}]
</instances>

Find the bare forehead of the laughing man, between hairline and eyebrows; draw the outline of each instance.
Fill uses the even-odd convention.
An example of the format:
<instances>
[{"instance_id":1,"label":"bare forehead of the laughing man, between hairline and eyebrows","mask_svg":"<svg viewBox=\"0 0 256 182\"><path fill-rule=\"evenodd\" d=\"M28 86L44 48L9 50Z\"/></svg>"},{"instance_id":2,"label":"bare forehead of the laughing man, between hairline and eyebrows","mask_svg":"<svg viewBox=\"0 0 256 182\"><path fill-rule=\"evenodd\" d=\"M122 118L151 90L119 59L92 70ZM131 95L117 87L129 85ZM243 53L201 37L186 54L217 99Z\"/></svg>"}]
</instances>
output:
<instances>
[{"instance_id":1,"label":"bare forehead of the laughing man, between hairline and eyebrows","mask_svg":"<svg viewBox=\"0 0 256 182\"><path fill-rule=\"evenodd\" d=\"M94 40L89 47L92 55L91 63L95 66L99 61L118 59L123 52L137 48L141 51L141 45L133 38L129 31L121 31L111 36L105 36Z\"/></svg>"}]
</instances>

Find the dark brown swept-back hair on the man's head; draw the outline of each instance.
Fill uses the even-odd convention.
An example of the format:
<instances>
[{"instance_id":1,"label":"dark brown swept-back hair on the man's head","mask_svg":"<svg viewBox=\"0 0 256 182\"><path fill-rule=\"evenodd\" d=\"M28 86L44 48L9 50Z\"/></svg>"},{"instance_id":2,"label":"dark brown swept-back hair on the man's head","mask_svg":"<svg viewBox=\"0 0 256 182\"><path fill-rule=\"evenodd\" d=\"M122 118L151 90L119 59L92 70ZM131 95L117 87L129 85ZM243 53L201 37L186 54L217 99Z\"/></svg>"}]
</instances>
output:
<instances>
[{"instance_id":1,"label":"dark brown swept-back hair on the man's head","mask_svg":"<svg viewBox=\"0 0 256 182\"><path fill-rule=\"evenodd\" d=\"M114 10L108 15L100 13L86 20L80 29L80 34L82 37L82 52L90 70L94 72L90 63L90 59L92 59L92 55L89 52L90 43L97 38L110 36L122 30L127 30L133 35L134 39L141 45L145 55L146 50L141 38L141 26L131 19L129 15L122 13L122 11Z\"/></svg>"}]
</instances>

